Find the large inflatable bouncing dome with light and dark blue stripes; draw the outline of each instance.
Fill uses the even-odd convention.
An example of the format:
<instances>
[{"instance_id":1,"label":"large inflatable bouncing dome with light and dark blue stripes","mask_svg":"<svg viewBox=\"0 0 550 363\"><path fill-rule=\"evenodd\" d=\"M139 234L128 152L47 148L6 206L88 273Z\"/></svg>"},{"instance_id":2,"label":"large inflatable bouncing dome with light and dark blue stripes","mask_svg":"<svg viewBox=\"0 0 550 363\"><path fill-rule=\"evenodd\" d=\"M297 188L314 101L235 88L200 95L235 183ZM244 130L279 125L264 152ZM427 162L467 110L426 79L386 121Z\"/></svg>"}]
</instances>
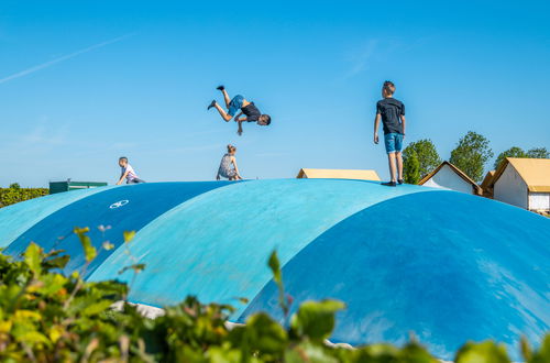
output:
<instances>
[{"instance_id":1,"label":"large inflatable bouncing dome with light and dark blue stripes","mask_svg":"<svg viewBox=\"0 0 550 363\"><path fill-rule=\"evenodd\" d=\"M187 295L228 302L245 321L264 310L283 321L267 258L276 250L293 308L336 298L333 342L405 342L415 332L443 359L466 340L518 351L550 327L550 219L490 199L403 185L338 179L151 183L52 195L0 209L0 246L31 241L72 256L74 227L102 250L88 280L119 278L139 263L130 300L162 307ZM245 297L242 305L237 298Z\"/></svg>"}]
</instances>

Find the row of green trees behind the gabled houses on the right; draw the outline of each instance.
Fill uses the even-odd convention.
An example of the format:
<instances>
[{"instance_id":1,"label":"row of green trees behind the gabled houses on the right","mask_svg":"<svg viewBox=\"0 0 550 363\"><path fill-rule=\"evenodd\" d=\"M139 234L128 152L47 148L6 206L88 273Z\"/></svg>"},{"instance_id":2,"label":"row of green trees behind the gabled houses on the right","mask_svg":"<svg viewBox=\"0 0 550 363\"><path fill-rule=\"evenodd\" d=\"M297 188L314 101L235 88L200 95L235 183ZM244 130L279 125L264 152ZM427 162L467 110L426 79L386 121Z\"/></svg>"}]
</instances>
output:
<instances>
[{"instance_id":1,"label":"row of green trees behind the gabled houses on the right","mask_svg":"<svg viewBox=\"0 0 550 363\"><path fill-rule=\"evenodd\" d=\"M449 163L460 168L476 183L480 183L485 175L485 165L493 156L494 153L487 138L469 131L459 140L457 147L451 152ZM524 151L521 147L513 146L498 154L493 167L496 169L506 157L550 158L550 152L546 147ZM432 172L439 164L441 164L441 157L430 139L411 142L403 151L405 183L418 184L422 177Z\"/></svg>"}]
</instances>

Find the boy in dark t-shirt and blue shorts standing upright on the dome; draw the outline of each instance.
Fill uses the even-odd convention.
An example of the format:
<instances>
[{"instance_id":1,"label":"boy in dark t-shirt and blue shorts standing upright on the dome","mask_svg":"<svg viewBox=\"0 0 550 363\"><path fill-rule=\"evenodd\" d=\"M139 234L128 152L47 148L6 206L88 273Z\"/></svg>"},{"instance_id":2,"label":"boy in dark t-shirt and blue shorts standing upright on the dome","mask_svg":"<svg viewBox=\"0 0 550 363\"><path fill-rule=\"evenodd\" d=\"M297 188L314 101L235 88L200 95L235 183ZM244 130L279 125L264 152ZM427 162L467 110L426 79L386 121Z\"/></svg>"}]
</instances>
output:
<instances>
[{"instance_id":1,"label":"boy in dark t-shirt and blue shorts standing upright on the dome","mask_svg":"<svg viewBox=\"0 0 550 363\"><path fill-rule=\"evenodd\" d=\"M402 148L403 139L405 138L405 105L393 98L394 92L395 85L386 80L382 87L383 99L376 103L376 118L374 119L375 144L378 143L378 125L381 119L384 127L384 144L386 146L392 179L388 183L382 183L382 185L388 187L395 187L397 183L403 184Z\"/></svg>"}]
</instances>

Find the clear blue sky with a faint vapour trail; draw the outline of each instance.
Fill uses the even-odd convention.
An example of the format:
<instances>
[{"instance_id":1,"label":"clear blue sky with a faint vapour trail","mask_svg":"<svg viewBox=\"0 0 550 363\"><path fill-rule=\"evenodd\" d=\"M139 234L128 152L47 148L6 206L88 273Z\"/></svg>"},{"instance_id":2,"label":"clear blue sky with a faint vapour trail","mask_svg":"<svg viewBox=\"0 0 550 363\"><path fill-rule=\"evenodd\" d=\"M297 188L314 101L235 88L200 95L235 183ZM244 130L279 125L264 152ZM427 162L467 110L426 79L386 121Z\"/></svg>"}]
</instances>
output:
<instances>
[{"instance_id":1,"label":"clear blue sky with a faint vapour trail","mask_svg":"<svg viewBox=\"0 0 550 363\"><path fill-rule=\"evenodd\" d=\"M0 2L0 186L215 177L234 143L248 178L374 168L385 79L406 141L449 158L469 130L498 152L550 146L548 1ZM243 136L216 86L272 114ZM487 165L488 167L488 165Z\"/></svg>"}]
</instances>

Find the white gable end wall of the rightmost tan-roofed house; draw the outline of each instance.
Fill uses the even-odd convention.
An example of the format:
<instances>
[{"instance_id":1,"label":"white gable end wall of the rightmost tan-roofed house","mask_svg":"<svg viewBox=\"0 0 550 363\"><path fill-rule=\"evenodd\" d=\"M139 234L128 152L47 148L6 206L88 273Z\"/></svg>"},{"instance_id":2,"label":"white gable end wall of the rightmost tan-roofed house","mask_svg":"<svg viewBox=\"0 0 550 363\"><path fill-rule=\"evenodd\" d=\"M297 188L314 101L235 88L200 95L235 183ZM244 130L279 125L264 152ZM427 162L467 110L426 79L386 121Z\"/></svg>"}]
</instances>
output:
<instances>
[{"instance_id":1,"label":"white gable end wall of the rightmost tan-roofed house","mask_svg":"<svg viewBox=\"0 0 550 363\"><path fill-rule=\"evenodd\" d=\"M527 209L527 184L518 172L508 164L503 175L496 180L493 199Z\"/></svg>"}]
</instances>

